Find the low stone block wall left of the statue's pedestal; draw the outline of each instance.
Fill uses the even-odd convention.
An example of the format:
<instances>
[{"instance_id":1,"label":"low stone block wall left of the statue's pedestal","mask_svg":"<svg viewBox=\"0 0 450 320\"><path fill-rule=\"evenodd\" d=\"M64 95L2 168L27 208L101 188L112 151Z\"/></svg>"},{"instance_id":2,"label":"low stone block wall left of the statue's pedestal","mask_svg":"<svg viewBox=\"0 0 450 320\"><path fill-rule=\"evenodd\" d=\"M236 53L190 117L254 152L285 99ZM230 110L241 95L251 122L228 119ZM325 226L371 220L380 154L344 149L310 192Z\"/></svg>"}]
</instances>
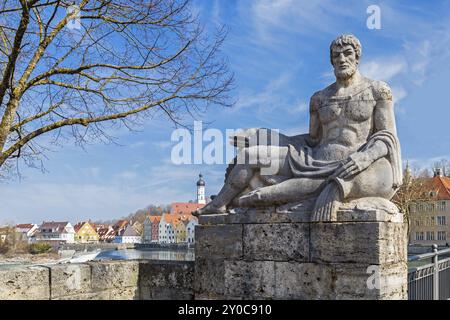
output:
<instances>
[{"instance_id":1,"label":"low stone block wall left of the statue's pedestal","mask_svg":"<svg viewBox=\"0 0 450 320\"><path fill-rule=\"evenodd\" d=\"M193 262L102 261L0 270L6 299L193 299Z\"/></svg>"}]
</instances>

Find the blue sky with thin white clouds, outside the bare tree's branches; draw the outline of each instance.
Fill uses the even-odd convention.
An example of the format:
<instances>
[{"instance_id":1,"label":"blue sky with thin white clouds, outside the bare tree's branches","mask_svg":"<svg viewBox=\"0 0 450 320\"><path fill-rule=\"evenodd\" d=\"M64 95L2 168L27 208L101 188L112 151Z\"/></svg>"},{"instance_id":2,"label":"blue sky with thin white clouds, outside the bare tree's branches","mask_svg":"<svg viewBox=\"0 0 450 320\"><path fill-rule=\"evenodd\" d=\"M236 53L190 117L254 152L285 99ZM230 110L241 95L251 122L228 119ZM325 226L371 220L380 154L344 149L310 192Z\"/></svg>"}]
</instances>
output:
<instances>
[{"instance_id":1,"label":"blue sky with thin white clouds, outside the bare tree's branches","mask_svg":"<svg viewBox=\"0 0 450 320\"><path fill-rule=\"evenodd\" d=\"M372 4L381 9L379 30L366 26ZM361 72L393 90L403 159L421 167L450 159L449 9L449 1L196 0L209 32L227 26L223 53L236 78L235 107L211 108L203 120L223 132L304 133L310 96L334 81L329 44L353 33L363 46ZM0 184L0 223L112 219L188 201L199 172L206 194L216 194L225 165L174 165L173 129L161 118L139 132L115 131L119 145L52 147L46 173L22 165L22 179Z\"/></svg>"}]
</instances>

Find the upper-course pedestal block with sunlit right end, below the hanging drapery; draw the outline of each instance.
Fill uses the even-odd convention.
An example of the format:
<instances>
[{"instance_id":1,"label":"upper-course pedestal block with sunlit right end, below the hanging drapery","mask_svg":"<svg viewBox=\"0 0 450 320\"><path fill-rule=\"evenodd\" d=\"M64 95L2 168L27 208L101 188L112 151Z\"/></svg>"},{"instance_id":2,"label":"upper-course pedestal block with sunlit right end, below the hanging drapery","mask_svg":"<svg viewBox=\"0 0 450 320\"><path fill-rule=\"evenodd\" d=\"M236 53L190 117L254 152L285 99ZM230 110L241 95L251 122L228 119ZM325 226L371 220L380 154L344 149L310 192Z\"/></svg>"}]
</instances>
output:
<instances>
[{"instance_id":1,"label":"upper-course pedestal block with sunlit right end, below the hanging drapery","mask_svg":"<svg viewBox=\"0 0 450 320\"><path fill-rule=\"evenodd\" d=\"M311 224L311 262L382 264L406 261L404 224Z\"/></svg>"}]
</instances>

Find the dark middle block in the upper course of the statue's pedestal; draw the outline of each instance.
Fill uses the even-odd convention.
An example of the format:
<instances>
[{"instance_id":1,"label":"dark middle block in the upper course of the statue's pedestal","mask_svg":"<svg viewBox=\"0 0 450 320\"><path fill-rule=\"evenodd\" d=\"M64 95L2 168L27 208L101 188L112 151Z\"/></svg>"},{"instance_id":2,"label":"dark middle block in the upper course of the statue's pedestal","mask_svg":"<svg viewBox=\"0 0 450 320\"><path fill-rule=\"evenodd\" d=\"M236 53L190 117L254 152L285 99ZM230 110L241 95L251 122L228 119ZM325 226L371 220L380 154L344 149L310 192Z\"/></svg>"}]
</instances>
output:
<instances>
[{"instance_id":1,"label":"dark middle block in the upper course of the statue's pedestal","mask_svg":"<svg viewBox=\"0 0 450 320\"><path fill-rule=\"evenodd\" d=\"M309 224L245 224L244 259L308 261Z\"/></svg>"}]
</instances>

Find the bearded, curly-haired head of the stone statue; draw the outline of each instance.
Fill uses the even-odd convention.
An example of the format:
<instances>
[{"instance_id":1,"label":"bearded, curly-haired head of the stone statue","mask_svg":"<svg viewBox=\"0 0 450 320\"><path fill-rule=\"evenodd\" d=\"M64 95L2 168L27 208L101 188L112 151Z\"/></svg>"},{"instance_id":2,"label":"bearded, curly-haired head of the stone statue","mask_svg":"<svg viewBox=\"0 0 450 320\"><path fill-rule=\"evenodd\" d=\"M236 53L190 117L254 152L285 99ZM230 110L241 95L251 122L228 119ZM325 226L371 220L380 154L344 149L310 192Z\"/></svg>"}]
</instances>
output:
<instances>
[{"instance_id":1,"label":"bearded, curly-haired head of the stone statue","mask_svg":"<svg viewBox=\"0 0 450 320\"><path fill-rule=\"evenodd\" d=\"M350 78L358 69L361 43L352 34L337 37L330 45L330 61L338 79Z\"/></svg>"}]
</instances>

